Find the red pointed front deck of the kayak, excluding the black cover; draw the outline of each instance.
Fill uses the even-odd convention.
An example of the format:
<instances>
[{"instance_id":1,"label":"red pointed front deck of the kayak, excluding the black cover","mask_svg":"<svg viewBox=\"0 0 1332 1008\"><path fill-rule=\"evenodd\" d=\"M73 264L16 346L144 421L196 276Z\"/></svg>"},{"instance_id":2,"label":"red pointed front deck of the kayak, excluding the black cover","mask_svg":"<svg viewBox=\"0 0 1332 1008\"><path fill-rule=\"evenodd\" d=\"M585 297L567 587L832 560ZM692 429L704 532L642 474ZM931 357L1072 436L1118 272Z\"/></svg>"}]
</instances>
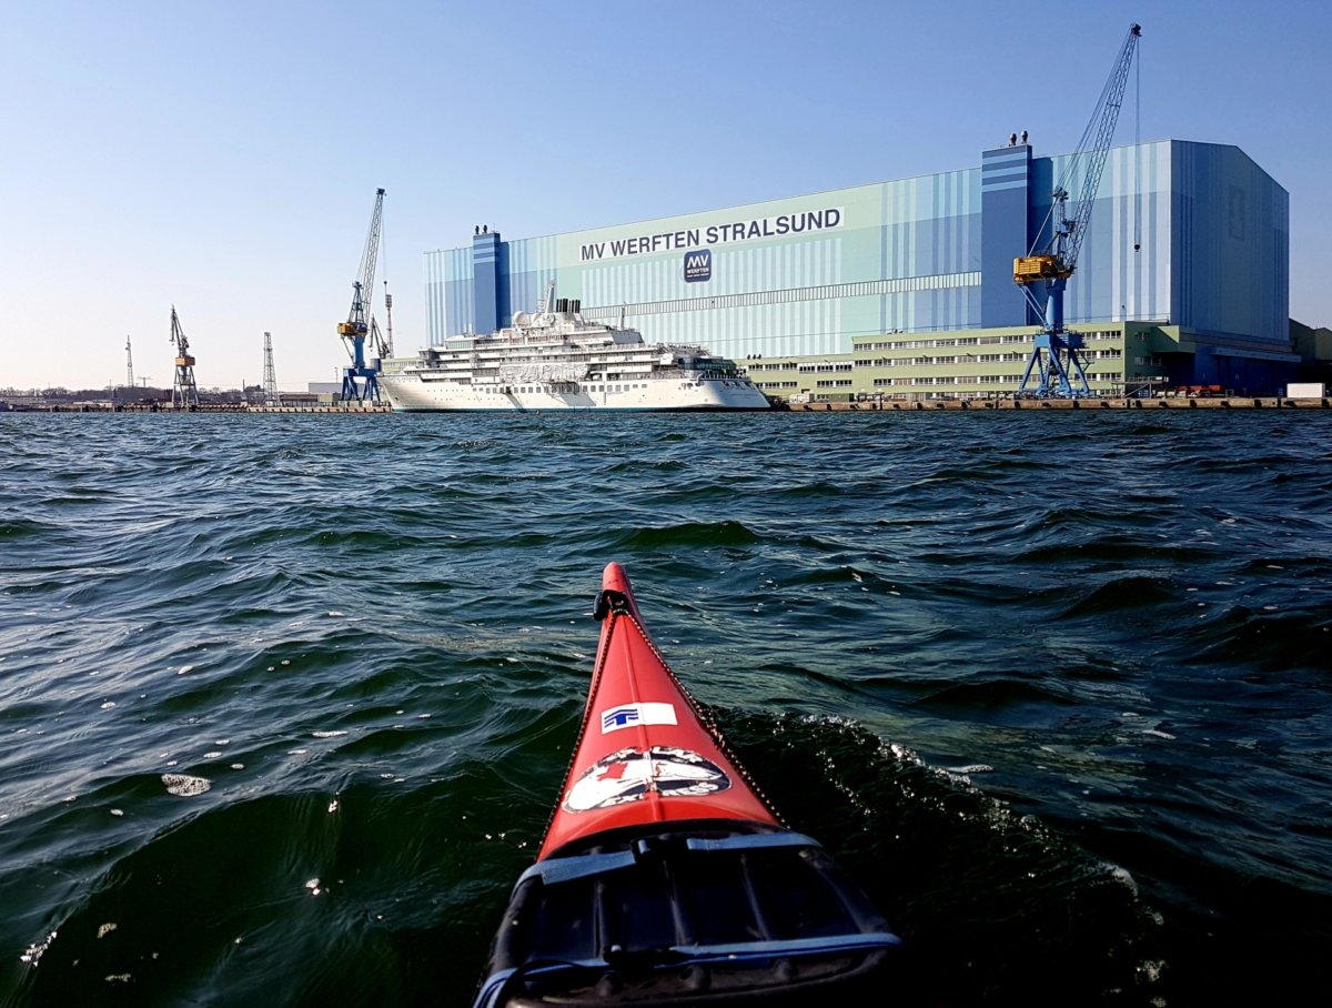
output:
<instances>
[{"instance_id":1,"label":"red pointed front deck of the kayak, excluding the black cover","mask_svg":"<svg viewBox=\"0 0 1332 1008\"><path fill-rule=\"evenodd\" d=\"M623 827L699 819L779 827L653 644L618 563L602 573L598 609L582 730L538 860Z\"/></svg>"}]
</instances>

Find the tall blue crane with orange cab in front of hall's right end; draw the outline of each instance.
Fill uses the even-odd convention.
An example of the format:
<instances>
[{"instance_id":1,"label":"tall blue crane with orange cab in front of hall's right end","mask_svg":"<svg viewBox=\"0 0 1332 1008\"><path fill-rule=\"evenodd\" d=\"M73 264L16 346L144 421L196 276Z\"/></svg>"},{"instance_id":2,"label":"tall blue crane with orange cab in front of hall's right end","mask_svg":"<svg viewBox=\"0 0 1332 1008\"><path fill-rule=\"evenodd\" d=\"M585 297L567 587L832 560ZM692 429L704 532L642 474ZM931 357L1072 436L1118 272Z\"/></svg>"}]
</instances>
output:
<instances>
[{"instance_id":1,"label":"tall blue crane with orange cab in front of hall's right end","mask_svg":"<svg viewBox=\"0 0 1332 1008\"><path fill-rule=\"evenodd\" d=\"M1022 286L1027 302L1044 320L1036 334L1027 369L1023 372L1022 383L1018 386L1019 395L1042 398L1091 395L1080 353L1083 337L1064 328L1064 289L1078 265L1078 253L1082 250L1083 238L1087 237L1092 205L1096 201L1096 190L1100 188L1100 176L1106 169L1110 141L1115 136L1115 124L1119 121L1119 109L1124 100L1124 88L1128 84L1128 68L1134 61L1134 52L1138 48L1142 31L1142 27L1136 24L1128 27L1128 35L1124 36L1124 43L1119 48L1119 56L1115 59L1114 69L1111 69L1106 87L1102 89L1096 111L1092 113L1091 121L1087 123L1078 149L1068 161L1068 174L1079 164L1086 164L1082 190L1072 205L1072 216L1070 216L1068 208L1068 189L1062 180L1055 185L1050 214L1042 224L1031 249L1026 256L1019 256L1012 261L1012 282ZM1047 228L1048 240L1046 240ZM1043 240L1046 240L1044 245L1042 245ZM1038 246L1042 248L1040 252L1036 252ZM1138 248L1139 242L1135 240L1135 250ZM1032 290L1038 285L1046 288L1044 305ZM1032 370L1036 372L1039 379L1032 378Z\"/></svg>"}]
</instances>

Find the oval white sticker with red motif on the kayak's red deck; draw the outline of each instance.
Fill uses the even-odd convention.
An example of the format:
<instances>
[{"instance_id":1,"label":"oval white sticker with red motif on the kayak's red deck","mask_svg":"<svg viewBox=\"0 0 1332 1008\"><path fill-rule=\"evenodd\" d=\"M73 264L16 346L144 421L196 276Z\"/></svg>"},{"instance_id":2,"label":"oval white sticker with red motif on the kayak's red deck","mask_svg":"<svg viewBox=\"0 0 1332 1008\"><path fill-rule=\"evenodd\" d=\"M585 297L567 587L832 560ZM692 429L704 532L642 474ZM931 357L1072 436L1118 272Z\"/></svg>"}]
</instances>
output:
<instances>
[{"instance_id":1,"label":"oval white sticker with red motif on the kayak's red deck","mask_svg":"<svg viewBox=\"0 0 1332 1008\"><path fill-rule=\"evenodd\" d=\"M698 798L726 791L731 779L697 752L670 746L625 748L590 766L569 788L566 812L590 812L658 794L661 798Z\"/></svg>"}]
</instances>

